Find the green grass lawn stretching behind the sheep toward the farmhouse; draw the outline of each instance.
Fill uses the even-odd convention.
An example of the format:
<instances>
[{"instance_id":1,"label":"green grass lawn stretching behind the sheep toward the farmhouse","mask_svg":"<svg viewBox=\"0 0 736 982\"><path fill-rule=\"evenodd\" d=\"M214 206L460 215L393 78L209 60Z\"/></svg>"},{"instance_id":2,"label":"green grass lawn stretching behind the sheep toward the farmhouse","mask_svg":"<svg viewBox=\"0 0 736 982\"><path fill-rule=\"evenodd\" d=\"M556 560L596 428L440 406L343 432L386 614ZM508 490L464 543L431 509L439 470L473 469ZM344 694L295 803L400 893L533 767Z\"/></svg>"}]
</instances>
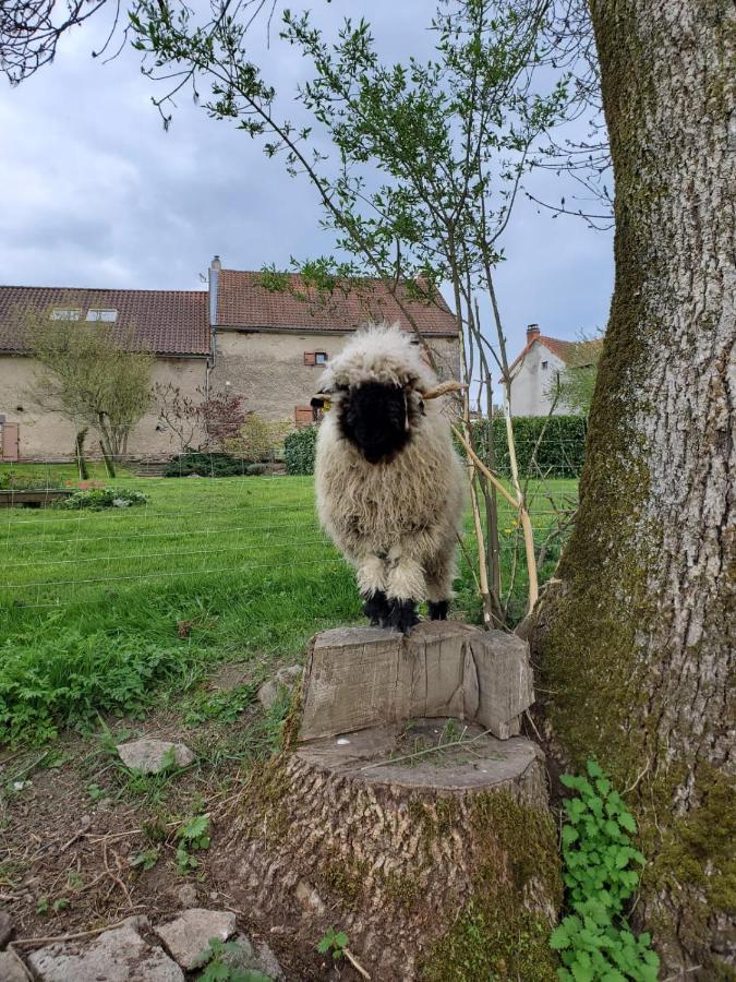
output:
<instances>
[{"instance_id":1,"label":"green grass lawn stretching behind the sheep toward the farmhouse","mask_svg":"<svg viewBox=\"0 0 736 982\"><path fill-rule=\"evenodd\" d=\"M13 472L76 482L73 468ZM121 474L107 483L144 491L148 504L0 510L0 743L142 711L216 661L299 655L316 631L360 620L352 573L316 524L312 478ZM545 495L574 501L577 486L534 491L541 542L554 520ZM510 512L500 517L508 582L515 530ZM517 570L510 612L520 616L521 555ZM472 619L464 561L458 587Z\"/></svg>"}]
</instances>

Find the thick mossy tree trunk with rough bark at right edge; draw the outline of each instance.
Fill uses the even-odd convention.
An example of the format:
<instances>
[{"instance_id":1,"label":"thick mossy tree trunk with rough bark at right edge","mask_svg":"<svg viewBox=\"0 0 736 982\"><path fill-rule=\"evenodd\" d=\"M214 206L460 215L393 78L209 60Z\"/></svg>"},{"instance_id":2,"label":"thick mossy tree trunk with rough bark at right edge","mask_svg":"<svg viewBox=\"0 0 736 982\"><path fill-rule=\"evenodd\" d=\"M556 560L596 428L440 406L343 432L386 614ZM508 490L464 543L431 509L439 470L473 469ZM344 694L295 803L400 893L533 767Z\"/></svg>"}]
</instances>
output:
<instances>
[{"instance_id":1,"label":"thick mossy tree trunk with rough bark at right edge","mask_svg":"<svg viewBox=\"0 0 736 982\"><path fill-rule=\"evenodd\" d=\"M638 815L650 862L636 915L653 930L664 975L725 979L735 953L735 8L591 8L616 286L577 528L535 644L556 736L578 765L598 757Z\"/></svg>"}]
</instances>

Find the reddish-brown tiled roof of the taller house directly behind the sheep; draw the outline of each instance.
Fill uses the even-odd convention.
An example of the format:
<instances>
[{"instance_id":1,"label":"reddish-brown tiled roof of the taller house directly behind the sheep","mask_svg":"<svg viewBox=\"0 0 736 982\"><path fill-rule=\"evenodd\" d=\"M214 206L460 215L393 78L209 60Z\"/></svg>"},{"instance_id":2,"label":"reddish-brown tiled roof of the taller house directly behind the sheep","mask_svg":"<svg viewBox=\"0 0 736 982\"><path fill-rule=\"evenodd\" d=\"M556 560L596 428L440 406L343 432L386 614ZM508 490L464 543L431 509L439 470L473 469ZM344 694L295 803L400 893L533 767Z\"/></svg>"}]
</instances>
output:
<instances>
[{"instance_id":1,"label":"reddish-brown tiled roof of the taller house directly behind the sheep","mask_svg":"<svg viewBox=\"0 0 736 982\"><path fill-rule=\"evenodd\" d=\"M290 289L273 292L261 283L260 273L221 270L217 323L222 327L297 328L299 331L350 331L366 321L398 321L411 330L388 288L379 279L360 280L348 292L339 288L322 299L313 288L304 288L301 277L291 275ZM294 296L304 295L306 299ZM422 334L457 335L455 316L443 298L424 303L407 301Z\"/></svg>"}]
</instances>

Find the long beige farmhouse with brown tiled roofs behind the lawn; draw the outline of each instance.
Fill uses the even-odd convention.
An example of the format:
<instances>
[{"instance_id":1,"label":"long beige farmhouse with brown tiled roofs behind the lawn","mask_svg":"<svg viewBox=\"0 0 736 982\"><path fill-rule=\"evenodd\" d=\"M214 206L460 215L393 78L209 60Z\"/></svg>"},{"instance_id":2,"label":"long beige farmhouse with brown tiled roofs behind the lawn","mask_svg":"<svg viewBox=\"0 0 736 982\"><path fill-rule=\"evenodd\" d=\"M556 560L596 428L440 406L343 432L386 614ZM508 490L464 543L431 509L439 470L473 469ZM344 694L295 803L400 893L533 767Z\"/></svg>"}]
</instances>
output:
<instances>
[{"instance_id":1,"label":"long beige farmhouse with brown tiled roofs behind the lawn","mask_svg":"<svg viewBox=\"0 0 736 982\"><path fill-rule=\"evenodd\" d=\"M412 319L431 344L445 376L457 375L457 326L441 297L431 304L402 297L402 306L379 280L365 279L328 297L289 276L286 289L266 289L260 273L210 264L207 289L106 290L0 287L0 459L64 459L72 456L70 422L34 403L33 352L24 343L24 311L40 310L69 322L104 321L136 328L156 356L152 383L177 386L200 399L224 391L266 419L312 422L310 399L324 366L355 328L369 320ZM172 452L155 406L129 441L133 456Z\"/></svg>"}]
</instances>

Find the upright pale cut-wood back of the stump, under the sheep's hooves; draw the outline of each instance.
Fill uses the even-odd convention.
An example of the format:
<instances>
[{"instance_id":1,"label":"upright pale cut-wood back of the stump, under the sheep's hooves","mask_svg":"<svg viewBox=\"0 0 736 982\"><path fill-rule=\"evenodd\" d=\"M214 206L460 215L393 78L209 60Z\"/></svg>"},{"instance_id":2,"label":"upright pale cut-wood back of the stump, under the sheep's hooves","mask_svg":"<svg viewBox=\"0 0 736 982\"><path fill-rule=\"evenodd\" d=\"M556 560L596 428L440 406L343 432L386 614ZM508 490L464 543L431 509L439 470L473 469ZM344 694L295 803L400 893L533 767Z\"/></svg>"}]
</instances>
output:
<instances>
[{"instance_id":1,"label":"upright pale cut-wood back of the stump, under the sheep's hooves","mask_svg":"<svg viewBox=\"0 0 736 982\"><path fill-rule=\"evenodd\" d=\"M408 637L378 627L325 631L302 685L300 741L407 719L455 717L507 740L534 699L526 642L434 621Z\"/></svg>"}]
</instances>

